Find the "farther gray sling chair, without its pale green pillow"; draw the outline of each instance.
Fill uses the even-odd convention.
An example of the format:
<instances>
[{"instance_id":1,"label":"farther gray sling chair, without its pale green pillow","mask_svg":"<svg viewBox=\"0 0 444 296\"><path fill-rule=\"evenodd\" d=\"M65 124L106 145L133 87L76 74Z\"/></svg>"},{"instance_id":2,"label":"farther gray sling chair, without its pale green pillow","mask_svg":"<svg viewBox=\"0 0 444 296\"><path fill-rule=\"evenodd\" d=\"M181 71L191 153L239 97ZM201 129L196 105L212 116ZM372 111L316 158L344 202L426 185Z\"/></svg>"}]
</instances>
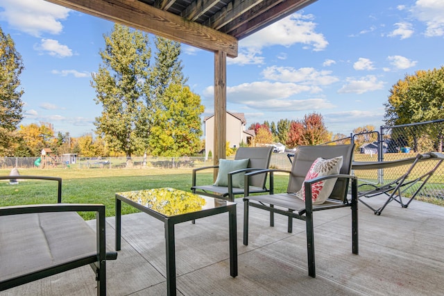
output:
<instances>
[{"instance_id":1,"label":"farther gray sling chair, without its pale green pillow","mask_svg":"<svg viewBox=\"0 0 444 296\"><path fill-rule=\"evenodd\" d=\"M215 168L219 168L219 165L198 167L197 169L193 170L193 183L191 191L199 195L217 197L233 202L235 195L244 195L244 188L232 186L233 178L240 173L268 169L272 153L273 147L239 147L239 149L236 151L236 155L234 156L234 160L239 161L241 159L248 159L249 161L246 169L229 172L227 186L214 186L213 184L198 185L197 176L199 171L208 169L214 170ZM248 180L248 192L268 192L269 190L266 188L266 177L267 174L251 176Z\"/></svg>"}]
</instances>

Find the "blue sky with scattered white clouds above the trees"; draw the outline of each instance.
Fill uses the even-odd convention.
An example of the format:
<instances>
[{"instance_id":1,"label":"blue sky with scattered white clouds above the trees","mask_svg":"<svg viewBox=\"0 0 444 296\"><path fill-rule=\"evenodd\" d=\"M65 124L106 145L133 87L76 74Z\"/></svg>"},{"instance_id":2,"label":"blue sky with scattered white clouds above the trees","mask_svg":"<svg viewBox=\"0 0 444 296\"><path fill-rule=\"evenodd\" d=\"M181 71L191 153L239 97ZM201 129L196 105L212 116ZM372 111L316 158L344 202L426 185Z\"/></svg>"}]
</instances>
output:
<instances>
[{"instance_id":1,"label":"blue sky with scattered white clouds above the trees","mask_svg":"<svg viewBox=\"0 0 444 296\"><path fill-rule=\"evenodd\" d=\"M228 58L227 109L245 113L248 126L316 112L333 133L378 129L393 84L444 65L443 16L442 0L318 0L239 42L239 56ZM91 73L113 24L43 0L2 0L0 26L26 67L22 124L50 122L74 137L94 131L101 106ZM188 84L210 115L214 55L182 51Z\"/></svg>"}]
</instances>

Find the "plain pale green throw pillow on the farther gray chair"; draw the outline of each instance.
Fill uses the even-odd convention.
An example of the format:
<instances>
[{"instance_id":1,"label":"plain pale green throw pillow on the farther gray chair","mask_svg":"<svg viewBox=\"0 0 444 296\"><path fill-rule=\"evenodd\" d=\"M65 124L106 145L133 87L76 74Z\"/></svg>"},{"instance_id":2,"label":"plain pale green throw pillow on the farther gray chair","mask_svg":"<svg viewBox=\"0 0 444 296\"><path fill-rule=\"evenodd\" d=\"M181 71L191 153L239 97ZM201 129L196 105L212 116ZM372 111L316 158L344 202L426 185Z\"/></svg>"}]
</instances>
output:
<instances>
[{"instance_id":1,"label":"plain pale green throw pillow on the farther gray chair","mask_svg":"<svg viewBox=\"0 0 444 296\"><path fill-rule=\"evenodd\" d=\"M214 186L228 186L228 173L243 170L248 167L250 160L239 159L239 161L229 161L227 159L219 159L219 173L217 174L216 182ZM232 186L236 188L244 188L244 176L245 173L234 174L232 176Z\"/></svg>"}]
</instances>

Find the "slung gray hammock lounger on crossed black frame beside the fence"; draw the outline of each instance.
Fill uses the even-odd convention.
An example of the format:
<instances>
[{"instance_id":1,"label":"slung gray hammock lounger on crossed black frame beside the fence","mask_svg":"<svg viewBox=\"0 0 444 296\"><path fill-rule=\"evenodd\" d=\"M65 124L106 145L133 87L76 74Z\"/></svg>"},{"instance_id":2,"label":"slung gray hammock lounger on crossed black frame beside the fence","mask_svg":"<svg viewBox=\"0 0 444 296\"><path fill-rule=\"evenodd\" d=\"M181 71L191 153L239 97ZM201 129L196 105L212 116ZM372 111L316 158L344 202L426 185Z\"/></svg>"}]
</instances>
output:
<instances>
[{"instance_id":1,"label":"slung gray hammock lounger on crossed black frame beside the fence","mask_svg":"<svg viewBox=\"0 0 444 296\"><path fill-rule=\"evenodd\" d=\"M422 161L435 161L434 165L427 171L425 174L422 174L418 177L412 177L411 172L418 163ZM427 181L429 181L430 177L434 174L434 172L438 169L438 167L443 163L444 155L439 152L428 152L425 154L416 154L415 157L402 158L396 161L369 161L369 162L359 162L355 161L352 163L353 170L384 170L391 167L398 167L402 165L409 165L407 171L399 176L398 178L384 184L380 183L363 183L359 185L359 188L370 188L368 190L359 190L359 202L366 205L370 208L375 215L381 215L384 208L392 201L398 202L402 206L402 208L407 208L411 201L418 195L420 190L424 188ZM413 187L416 184L420 184L416 187ZM404 196L404 192L407 190L411 190L411 196L409 197L407 203L404 203L402 197ZM379 208L375 208L370 206L367 202L364 202L365 198L375 197L377 195L386 195L386 202Z\"/></svg>"}]
</instances>

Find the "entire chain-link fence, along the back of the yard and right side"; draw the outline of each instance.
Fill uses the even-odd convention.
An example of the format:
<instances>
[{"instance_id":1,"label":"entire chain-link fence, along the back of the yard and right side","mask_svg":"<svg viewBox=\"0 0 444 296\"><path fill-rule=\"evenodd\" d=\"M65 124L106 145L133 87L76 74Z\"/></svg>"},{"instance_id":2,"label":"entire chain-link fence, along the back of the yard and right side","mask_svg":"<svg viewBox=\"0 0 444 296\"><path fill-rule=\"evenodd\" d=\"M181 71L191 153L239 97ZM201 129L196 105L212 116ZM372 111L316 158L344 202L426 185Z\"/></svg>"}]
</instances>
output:
<instances>
[{"instance_id":1,"label":"entire chain-link fence, along the back of the yard and right side","mask_svg":"<svg viewBox=\"0 0 444 296\"><path fill-rule=\"evenodd\" d=\"M403 124L399 126L381 126L379 131L364 131L351 134L348 138L336 140L325 144L348 144L355 142L355 161L395 161L402 158L414 157L418 153L429 151L443 151L444 120L420 122L416 124ZM234 156L228 157L234 158ZM210 166L212 158L205 157L133 157L127 161L126 157L69 157L48 158L38 161L37 157L5 157L0 158L0 167L7 168L48 168L65 167L76 169L123 169L123 168L158 168L191 170L195 167ZM409 175L415 179L434 167L436 161L418 163ZM271 168L290 170L291 163L287 153L273 153L270 162ZM383 185L405 174L409 165L391 167L384 170L356 170L354 174L362 183ZM417 183L409 191L416 191ZM420 194L423 197L436 197L444 199L444 165L438 167Z\"/></svg>"}]
</instances>

